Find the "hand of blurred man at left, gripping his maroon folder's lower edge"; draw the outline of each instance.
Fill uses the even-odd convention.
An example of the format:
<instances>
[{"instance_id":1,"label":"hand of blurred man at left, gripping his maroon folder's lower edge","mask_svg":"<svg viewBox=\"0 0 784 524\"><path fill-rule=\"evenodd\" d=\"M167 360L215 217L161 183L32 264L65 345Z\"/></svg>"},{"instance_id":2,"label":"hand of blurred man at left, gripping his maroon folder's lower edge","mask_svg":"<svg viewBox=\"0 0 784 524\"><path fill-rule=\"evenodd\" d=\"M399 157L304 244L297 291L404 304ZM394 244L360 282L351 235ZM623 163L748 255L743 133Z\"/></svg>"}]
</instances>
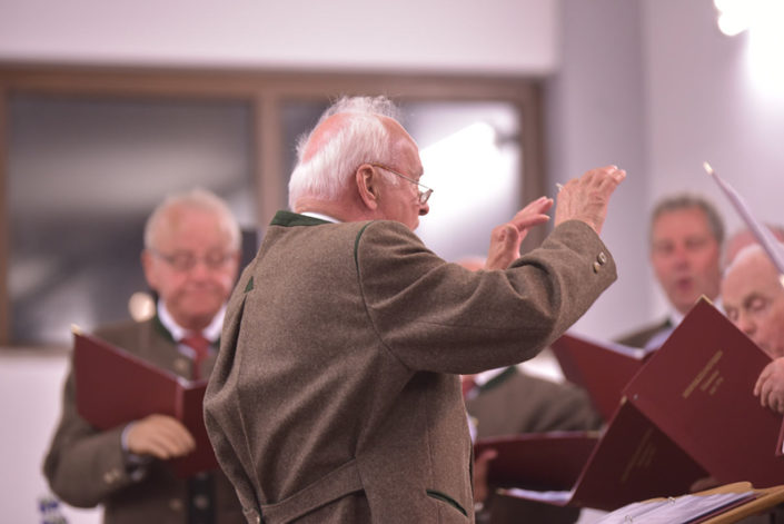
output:
<instances>
[{"instance_id":1,"label":"hand of blurred man at left, gripping his maroon folder's lower edge","mask_svg":"<svg viewBox=\"0 0 784 524\"><path fill-rule=\"evenodd\" d=\"M158 414L135 422L128 429L127 444L131 453L163 461L196 449L193 436L178 419Z\"/></svg>"}]
</instances>

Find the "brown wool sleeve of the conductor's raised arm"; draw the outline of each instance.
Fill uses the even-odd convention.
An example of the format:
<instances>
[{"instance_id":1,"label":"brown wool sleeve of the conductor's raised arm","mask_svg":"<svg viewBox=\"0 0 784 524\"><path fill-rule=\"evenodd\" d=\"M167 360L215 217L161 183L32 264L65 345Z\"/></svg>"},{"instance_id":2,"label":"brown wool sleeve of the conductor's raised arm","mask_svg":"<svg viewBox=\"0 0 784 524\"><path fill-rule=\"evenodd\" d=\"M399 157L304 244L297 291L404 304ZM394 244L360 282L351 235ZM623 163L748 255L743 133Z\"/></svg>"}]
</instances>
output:
<instances>
[{"instance_id":1,"label":"brown wool sleeve of the conductor's raised arm","mask_svg":"<svg viewBox=\"0 0 784 524\"><path fill-rule=\"evenodd\" d=\"M506 270L448 264L390 221L363 230L355 261L385 347L411 369L454 374L535 356L616 278L609 251L577 220L559 225Z\"/></svg>"}]
</instances>

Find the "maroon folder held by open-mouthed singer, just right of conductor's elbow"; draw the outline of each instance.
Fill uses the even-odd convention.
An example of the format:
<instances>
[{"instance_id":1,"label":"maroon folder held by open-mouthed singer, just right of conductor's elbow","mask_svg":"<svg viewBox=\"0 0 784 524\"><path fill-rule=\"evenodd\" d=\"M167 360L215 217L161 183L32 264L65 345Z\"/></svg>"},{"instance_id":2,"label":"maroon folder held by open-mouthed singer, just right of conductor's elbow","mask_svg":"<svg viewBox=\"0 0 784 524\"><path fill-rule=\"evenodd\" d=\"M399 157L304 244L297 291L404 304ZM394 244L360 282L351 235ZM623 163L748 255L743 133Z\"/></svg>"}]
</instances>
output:
<instances>
[{"instance_id":1,"label":"maroon folder held by open-mouthed singer, just right of conductor's elbow","mask_svg":"<svg viewBox=\"0 0 784 524\"><path fill-rule=\"evenodd\" d=\"M652 354L572 333L562 335L550 349L564 377L587 392L605 422L613 418L624 387Z\"/></svg>"}]
</instances>

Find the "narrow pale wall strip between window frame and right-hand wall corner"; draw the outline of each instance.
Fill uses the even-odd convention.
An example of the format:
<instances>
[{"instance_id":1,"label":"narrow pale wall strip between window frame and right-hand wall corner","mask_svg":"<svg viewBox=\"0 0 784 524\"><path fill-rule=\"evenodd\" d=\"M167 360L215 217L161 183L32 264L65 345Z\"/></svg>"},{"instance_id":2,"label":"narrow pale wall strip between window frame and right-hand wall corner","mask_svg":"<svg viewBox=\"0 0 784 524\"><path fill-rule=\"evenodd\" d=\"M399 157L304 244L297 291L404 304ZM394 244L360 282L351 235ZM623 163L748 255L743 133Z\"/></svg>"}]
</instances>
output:
<instances>
[{"instance_id":1,"label":"narrow pale wall strip between window frame and right-hand wall corner","mask_svg":"<svg viewBox=\"0 0 784 524\"><path fill-rule=\"evenodd\" d=\"M564 0L562 66L545 91L553 190L556 181L593 167L615 164L627 171L602 231L618 266L618 281L574 326L601 338L651 318L639 234L647 223L642 23L638 2Z\"/></svg>"}]
</instances>

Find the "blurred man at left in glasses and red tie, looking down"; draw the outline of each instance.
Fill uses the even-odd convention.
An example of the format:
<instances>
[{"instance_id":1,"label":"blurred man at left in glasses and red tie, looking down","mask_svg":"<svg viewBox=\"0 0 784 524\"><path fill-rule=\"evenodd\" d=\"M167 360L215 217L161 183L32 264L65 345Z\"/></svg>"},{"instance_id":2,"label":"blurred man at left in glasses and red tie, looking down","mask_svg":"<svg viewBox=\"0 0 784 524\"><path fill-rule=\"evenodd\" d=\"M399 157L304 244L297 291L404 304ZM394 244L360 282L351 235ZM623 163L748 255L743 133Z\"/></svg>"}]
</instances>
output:
<instances>
[{"instance_id":1,"label":"blurred man at left in glasses and red tie, looking down","mask_svg":"<svg viewBox=\"0 0 784 524\"><path fill-rule=\"evenodd\" d=\"M159 297L156 315L96 334L183 378L209 376L239 256L239 227L222 200L202 189L169 197L147 221L141 254L147 283ZM179 421L152 414L99 432L77 412L75 387L71 373L43 464L62 501L102 504L107 524L246 522L222 472L181 479L165 463L193 451L193 437Z\"/></svg>"}]
</instances>

